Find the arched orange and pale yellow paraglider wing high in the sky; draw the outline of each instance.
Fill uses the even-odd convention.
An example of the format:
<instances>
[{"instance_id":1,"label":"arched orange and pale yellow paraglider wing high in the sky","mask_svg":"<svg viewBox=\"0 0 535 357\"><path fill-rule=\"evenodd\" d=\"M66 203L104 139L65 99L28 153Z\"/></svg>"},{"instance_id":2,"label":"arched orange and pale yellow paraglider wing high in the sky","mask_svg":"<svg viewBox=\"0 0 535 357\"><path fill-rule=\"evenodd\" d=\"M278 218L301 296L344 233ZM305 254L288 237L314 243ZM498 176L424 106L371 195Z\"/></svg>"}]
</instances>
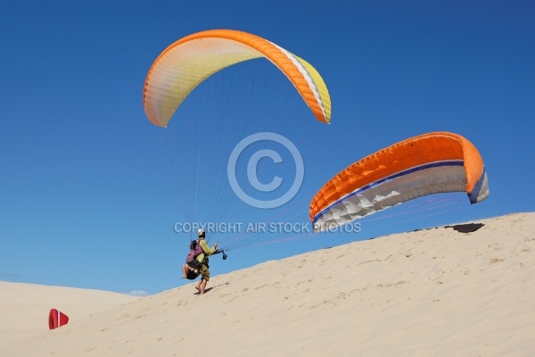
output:
<instances>
[{"instance_id":1,"label":"arched orange and pale yellow paraglider wing high in the sky","mask_svg":"<svg viewBox=\"0 0 535 357\"><path fill-rule=\"evenodd\" d=\"M238 62L265 57L283 71L317 120L331 120L331 99L314 67L268 40L250 33L214 29L183 37L152 63L144 83L144 110L154 125L167 127L195 87Z\"/></svg>"}]
</instances>

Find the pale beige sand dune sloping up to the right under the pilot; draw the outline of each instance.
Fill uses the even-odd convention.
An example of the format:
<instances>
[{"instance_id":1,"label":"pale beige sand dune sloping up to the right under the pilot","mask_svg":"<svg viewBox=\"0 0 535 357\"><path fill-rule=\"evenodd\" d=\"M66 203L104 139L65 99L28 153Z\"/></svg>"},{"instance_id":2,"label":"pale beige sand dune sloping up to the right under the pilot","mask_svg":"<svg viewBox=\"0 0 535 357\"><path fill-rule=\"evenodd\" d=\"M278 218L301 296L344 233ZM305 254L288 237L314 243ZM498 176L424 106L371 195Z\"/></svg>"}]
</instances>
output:
<instances>
[{"instance_id":1,"label":"pale beige sand dune sloping up to the right under the pilot","mask_svg":"<svg viewBox=\"0 0 535 357\"><path fill-rule=\"evenodd\" d=\"M193 294L192 285L130 301L92 292L78 297L85 299L79 318L68 325L28 328L8 344L11 284L3 283L0 356L534 355L535 213L474 223L483 226L425 229L265 262L213 277L206 295ZM63 289L24 288L36 300L11 301L11 311ZM96 311L96 296L107 309Z\"/></svg>"}]
</instances>

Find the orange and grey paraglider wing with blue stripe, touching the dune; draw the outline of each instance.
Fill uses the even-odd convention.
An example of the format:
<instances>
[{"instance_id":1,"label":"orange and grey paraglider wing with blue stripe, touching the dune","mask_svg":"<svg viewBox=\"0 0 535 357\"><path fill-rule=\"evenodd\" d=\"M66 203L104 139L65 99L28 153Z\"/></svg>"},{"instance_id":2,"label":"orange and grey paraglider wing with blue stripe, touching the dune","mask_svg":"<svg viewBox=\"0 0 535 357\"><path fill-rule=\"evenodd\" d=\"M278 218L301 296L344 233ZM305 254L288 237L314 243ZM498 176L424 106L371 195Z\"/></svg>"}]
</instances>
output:
<instances>
[{"instance_id":1,"label":"orange and grey paraglider wing with blue stripe, touching the dune","mask_svg":"<svg viewBox=\"0 0 535 357\"><path fill-rule=\"evenodd\" d=\"M465 137L435 132L411 137L351 164L310 203L315 231L342 226L409 200L465 191L471 203L489 195L481 154Z\"/></svg>"}]
</instances>

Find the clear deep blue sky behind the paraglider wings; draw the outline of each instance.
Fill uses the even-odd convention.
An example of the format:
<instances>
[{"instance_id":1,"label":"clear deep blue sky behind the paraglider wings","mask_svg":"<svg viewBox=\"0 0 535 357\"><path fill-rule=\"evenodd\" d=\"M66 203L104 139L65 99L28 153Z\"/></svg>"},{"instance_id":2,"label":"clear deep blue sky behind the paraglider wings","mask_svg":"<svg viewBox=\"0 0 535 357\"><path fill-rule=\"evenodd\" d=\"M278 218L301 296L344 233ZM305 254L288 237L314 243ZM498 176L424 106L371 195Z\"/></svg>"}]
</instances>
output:
<instances>
[{"instance_id":1,"label":"clear deep blue sky behind the paraglider wings","mask_svg":"<svg viewBox=\"0 0 535 357\"><path fill-rule=\"evenodd\" d=\"M199 209L194 219L211 220L202 214L222 211L227 221L306 222L309 199L336 172L430 131L467 137L490 179L490 198L480 204L452 194L446 199L455 210L436 208L435 199L424 203L430 211L401 220L392 217L403 212L397 207L375 214L358 235L253 237L256 243L287 241L244 246L225 262L215 256L212 275L392 232L533 211L535 5L346 3L3 4L0 280L148 294L185 283L179 267L189 237L173 227L191 211L181 200L190 191L177 185L173 172L185 170L184 158L173 158L168 145L177 145L173 130L180 124L165 133L154 127L144 114L142 90L161 51L204 29L251 32L312 63L329 88L333 118L330 126L317 122L268 62L243 65L200 86L200 97L188 98L190 109L174 119L218 112L226 120L221 111L230 102L222 103L211 88L241 88L228 100L239 104L242 95L251 96L247 104L279 124L288 115L297 118L280 130L300 149L306 175L299 195L280 211L248 209L226 189L223 198L203 201L215 208ZM271 78L283 89L271 87ZM225 115L254 117L249 109L237 105ZM247 130L272 129L265 121L252 120ZM205 153L218 154L218 146L208 147ZM202 186L215 182L210 176L225 177L218 170L226 157L209 156ZM269 162L264 165L269 180ZM235 208L225 213L231 203ZM210 239L225 245L231 238Z\"/></svg>"}]
</instances>

